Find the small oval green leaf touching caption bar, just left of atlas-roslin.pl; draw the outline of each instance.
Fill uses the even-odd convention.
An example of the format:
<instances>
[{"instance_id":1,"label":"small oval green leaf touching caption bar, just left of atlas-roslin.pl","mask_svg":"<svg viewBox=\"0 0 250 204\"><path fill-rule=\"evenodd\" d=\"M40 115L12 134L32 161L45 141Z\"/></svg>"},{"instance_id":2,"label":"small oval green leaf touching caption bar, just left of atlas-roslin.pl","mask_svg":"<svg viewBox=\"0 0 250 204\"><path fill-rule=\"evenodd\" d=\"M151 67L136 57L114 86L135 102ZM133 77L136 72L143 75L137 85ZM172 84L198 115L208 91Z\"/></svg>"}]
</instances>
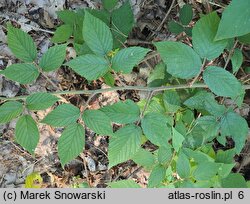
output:
<instances>
[{"instance_id":1,"label":"small oval green leaf touching caption bar, just left of atlas-roslin.pl","mask_svg":"<svg viewBox=\"0 0 250 204\"><path fill-rule=\"evenodd\" d=\"M157 165L152 170L149 179L148 179L148 187L154 188L161 184L162 180L165 178L166 169L164 166Z\"/></svg>"}]
</instances>

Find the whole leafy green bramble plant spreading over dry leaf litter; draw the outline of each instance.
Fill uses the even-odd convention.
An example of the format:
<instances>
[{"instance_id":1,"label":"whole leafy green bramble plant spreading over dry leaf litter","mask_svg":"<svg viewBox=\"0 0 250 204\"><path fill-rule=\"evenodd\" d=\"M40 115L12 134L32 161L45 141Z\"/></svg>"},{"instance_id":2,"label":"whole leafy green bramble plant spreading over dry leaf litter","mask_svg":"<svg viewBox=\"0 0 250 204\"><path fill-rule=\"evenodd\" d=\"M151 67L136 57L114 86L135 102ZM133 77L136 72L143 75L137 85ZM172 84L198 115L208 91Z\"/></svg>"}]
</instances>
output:
<instances>
[{"instance_id":1,"label":"whole leafy green bramble plant spreading over dry leaf litter","mask_svg":"<svg viewBox=\"0 0 250 204\"><path fill-rule=\"evenodd\" d=\"M39 61L32 38L8 24L8 46L22 61L0 72L8 79L30 84L43 72L64 65L89 82L104 78L111 88L1 97L4 103L0 107L0 123L18 118L15 141L33 155L39 141L37 123L64 127L58 141L62 166L84 150L84 124L96 134L109 136L109 168L133 160L151 172L148 187L249 186L241 174L232 173L234 156L241 152L248 135L248 124L233 106L225 106L217 99L230 98L240 108L245 90L250 89L250 85L235 77L243 62L236 44L250 41L250 13L246 9L250 8L250 0L233 0L221 19L216 12L202 16L192 29L192 47L162 41L153 43L156 51L139 46L121 48L132 29L133 15L128 2L119 8L116 4L117 0L104 0L101 11L59 12L64 24L57 28L52 41L65 44L49 48ZM189 23L181 21L184 25ZM72 35L78 56L63 64L67 41ZM235 46L230 46L232 41ZM225 49L234 51L228 56L231 71L226 69L227 64L225 68L215 64ZM158 52L162 61L149 76L147 87L114 86L114 73L132 72L151 52ZM87 109L87 104L80 110L72 104L63 104L58 97L64 94L92 97L116 90L143 90L149 97L138 103L120 101L99 110ZM60 105L41 121L27 114L55 103ZM113 124L120 124L115 132ZM227 137L233 139L234 148L215 152L213 141L225 145ZM147 141L156 150L147 150L144 145ZM133 180L108 185L140 187Z\"/></svg>"}]
</instances>

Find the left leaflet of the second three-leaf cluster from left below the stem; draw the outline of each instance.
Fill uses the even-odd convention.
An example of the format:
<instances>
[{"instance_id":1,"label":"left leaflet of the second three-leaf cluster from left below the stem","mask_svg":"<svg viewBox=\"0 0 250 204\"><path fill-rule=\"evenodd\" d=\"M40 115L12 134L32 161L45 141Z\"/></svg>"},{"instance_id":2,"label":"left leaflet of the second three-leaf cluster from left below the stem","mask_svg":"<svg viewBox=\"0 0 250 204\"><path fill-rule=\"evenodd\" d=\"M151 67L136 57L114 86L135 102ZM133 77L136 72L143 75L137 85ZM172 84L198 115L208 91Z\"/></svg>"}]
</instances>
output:
<instances>
[{"instance_id":1,"label":"left leaflet of the second three-leaf cluster from left below the stem","mask_svg":"<svg viewBox=\"0 0 250 204\"><path fill-rule=\"evenodd\" d=\"M80 110L71 104L62 104L51 111L41 122L54 127L64 127L76 122Z\"/></svg>"}]
</instances>

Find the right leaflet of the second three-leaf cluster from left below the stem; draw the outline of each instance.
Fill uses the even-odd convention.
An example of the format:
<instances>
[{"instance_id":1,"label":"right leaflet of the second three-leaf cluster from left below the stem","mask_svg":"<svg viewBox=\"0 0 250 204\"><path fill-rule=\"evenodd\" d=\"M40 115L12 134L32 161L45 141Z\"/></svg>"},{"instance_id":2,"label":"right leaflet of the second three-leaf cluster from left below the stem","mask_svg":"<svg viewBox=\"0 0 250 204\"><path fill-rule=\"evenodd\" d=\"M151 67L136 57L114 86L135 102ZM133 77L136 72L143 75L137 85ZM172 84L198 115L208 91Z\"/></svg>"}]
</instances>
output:
<instances>
[{"instance_id":1,"label":"right leaflet of the second three-leaf cluster from left below the stem","mask_svg":"<svg viewBox=\"0 0 250 204\"><path fill-rule=\"evenodd\" d=\"M100 110L85 110L82 116L84 123L95 133L113 135L111 120Z\"/></svg>"}]
</instances>

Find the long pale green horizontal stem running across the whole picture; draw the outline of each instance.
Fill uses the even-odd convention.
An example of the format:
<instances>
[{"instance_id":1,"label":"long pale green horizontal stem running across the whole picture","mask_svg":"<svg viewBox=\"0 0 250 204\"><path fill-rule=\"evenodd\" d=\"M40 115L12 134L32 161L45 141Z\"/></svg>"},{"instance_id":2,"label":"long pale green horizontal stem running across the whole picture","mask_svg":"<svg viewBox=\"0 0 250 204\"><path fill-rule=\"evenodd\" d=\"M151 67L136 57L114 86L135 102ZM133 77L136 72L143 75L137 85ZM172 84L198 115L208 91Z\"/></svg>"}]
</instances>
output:
<instances>
[{"instance_id":1,"label":"long pale green horizontal stem running across the whole picture","mask_svg":"<svg viewBox=\"0 0 250 204\"><path fill-rule=\"evenodd\" d=\"M112 87L112 88L106 88L106 89L97 89L97 90L77 90L77 91L56 91L56 92L50 92L50 94L53 95L76 95L76 94L85 94L85 95L91 95L91 94L98 94L98 93L105 93L110 91L122 91L122 90L135 90L135 91L166 91L166 90L173 90L173 89L190 89L190 88L208 88L206 84L199 83L199 84L193 84L192 87L190 87L189 84L180 84L180 85L172 85L172 86L159 86L159 87L144 87L144 86L119 86L119 87ZM250 85L243 85L243 89L247 90L250 89ZM0 97L0 100L2 101L16 101L16 100L26 100L26 98L29 95L25 96L17 96L17 97Z\"/></svg>"}]
</instances>

